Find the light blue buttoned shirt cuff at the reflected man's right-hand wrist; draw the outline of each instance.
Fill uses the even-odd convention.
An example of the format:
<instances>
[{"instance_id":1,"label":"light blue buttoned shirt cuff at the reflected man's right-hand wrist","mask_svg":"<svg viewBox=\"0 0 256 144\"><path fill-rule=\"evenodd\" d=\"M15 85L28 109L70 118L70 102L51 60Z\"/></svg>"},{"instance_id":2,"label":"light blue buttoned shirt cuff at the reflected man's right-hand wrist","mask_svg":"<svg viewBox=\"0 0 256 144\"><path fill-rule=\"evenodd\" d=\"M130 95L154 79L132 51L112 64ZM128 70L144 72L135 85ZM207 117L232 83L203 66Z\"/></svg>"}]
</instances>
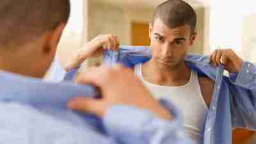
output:
<instances>
[{"instance_id":1,"label":"light blue buttoned shirt cuff at the reflected man's right-hand wrist","mask_svg":"<svg viewBox=\"0 0 256 144\"><path fill-rule=\"evenodd\" d=\"M238 86L249 88L255 81L256 68L255 65L248 61L244 61L239 73L231 73L230 81Z\"/></svg>"}]
</instances>

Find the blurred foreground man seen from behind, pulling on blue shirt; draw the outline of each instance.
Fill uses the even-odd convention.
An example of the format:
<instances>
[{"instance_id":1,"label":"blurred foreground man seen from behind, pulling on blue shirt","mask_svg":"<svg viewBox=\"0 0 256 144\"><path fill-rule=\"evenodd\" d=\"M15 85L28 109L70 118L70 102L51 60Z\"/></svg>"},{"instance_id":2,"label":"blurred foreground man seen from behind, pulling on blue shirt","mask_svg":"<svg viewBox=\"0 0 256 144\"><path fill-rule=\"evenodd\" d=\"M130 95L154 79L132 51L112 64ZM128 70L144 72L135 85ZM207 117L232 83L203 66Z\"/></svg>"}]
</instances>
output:
<instances>
[{"instance_id":1,"label":"blurred foreground man seen from behind, pulling on blue shirt","mask_svg":"<svg viewBox=\"0 0 256 144\"><path fill-rule=\"evenodd\" d=\"M41 81L67 24L68 0L0 3L0 143L189 143L178 111L154 100L127 68L96 68L77 84ZM86 100L68 102L77 95ZM102 118L105 131L66 103Z\"/></svg>"}]
</instances>

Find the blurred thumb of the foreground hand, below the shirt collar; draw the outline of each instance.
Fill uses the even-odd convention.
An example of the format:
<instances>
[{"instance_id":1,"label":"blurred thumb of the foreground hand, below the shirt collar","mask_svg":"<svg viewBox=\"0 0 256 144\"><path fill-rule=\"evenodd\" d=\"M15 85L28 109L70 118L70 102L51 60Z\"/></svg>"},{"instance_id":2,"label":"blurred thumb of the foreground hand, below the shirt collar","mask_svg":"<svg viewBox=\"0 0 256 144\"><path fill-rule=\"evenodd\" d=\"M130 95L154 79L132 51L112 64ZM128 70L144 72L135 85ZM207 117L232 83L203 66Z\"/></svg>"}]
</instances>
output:
<instances>
[{"instance_id":1,"label":"blurred thumb of the foreground hand, below the shirt collar","mask_svg":"<svg viewBox=\"0 0 256 144\"><path fill-rule=\"evenodd\" d=\"M92 97L77 97L71 99L67 103L67 107L83 113L92 113L102 117L104 115L104 104L100 99L93 99Z\"/></svg>"}]
</instances>

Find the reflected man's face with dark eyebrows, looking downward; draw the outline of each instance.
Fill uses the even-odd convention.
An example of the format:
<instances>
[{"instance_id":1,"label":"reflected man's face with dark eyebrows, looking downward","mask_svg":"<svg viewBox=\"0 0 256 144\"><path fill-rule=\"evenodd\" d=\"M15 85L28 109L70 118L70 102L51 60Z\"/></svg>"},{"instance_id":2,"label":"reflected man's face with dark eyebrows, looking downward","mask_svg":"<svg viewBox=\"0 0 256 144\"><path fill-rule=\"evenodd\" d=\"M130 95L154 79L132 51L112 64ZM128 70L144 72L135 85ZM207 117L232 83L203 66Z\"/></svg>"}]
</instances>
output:
<instances>
[{"instance_id":1,"label":"reflected man's face with dark eyebrows, looking downward","mask_svg":"<svg viewBox=\"0 0 256 144\"><path fill-rule=\"evenodd\" d=\"M189 46L193 44L196 33L191 35L189 25L170 29L157 19L150 25L150 49L152 61L159 67L173 69L184 62Z\"/></svg>"}]
</instances>

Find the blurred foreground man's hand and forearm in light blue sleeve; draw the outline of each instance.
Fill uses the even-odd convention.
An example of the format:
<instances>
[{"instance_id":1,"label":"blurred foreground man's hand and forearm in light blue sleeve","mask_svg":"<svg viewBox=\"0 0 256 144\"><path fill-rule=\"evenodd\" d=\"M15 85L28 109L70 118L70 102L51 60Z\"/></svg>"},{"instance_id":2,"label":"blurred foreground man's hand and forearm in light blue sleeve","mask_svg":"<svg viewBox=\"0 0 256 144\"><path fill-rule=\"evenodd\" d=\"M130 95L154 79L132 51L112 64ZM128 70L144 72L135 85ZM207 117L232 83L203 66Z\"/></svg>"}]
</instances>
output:
<instances>
[{"instance_id":1,"label":"blurred foreground man's hand and forearm in light blue sleeve","mask_svg":"<svg viewBox=\"0 0 256 144\"><path fill-rule=\"evenodd\" d=\"M101 97L77 97L68 102L68 108L104 118L116 143L191 143L184 134L180 111L168 102L157 102L131 70L93 68L76 82L97 86Z\"/></svg>"}]
</instances>

